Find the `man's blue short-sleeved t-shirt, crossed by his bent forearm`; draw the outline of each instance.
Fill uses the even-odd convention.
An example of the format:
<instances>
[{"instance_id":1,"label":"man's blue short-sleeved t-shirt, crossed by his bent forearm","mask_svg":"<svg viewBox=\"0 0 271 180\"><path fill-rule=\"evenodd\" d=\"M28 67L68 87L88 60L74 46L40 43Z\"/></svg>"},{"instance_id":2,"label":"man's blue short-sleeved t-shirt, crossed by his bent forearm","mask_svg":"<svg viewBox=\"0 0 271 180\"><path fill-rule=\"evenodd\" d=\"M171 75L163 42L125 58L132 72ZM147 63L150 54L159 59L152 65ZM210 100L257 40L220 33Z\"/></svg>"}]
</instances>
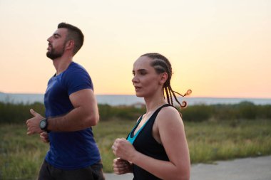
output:
<instances>
[{"instance_id":1,"label":"man's blue short-sleeved t-shirt, crossed by his bent forearm","mask_svg":"<svg viewBox=\"0 0 271 180\"><path fill-rule=\"evenodd\" d=\"M91 77L81 65L72 62L48 81L44 95L46 117L66 115L73 110L69 95L83 89L93 90ZM101 160L91 127L76 132L50 132L49 139L45 159L58 169L81 169Z\"/></svg>"}]
</instances>

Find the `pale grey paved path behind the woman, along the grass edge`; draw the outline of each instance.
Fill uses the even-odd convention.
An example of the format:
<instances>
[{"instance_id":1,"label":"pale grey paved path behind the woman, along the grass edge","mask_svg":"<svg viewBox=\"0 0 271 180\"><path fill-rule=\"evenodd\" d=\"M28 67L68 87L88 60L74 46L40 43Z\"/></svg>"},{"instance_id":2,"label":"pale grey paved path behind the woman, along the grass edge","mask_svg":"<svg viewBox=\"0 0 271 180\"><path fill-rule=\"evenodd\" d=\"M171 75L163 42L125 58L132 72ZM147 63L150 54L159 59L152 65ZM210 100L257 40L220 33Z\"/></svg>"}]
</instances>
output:
<instances>
[{"instance_id":1,"label":"pale grey paved path behind the woman, along the grass edge","mask_svg":"<svg viewBox=\"0 0 271 180\"><path fill-rule=\"evenodd\" d=\"M106 180L131 180L133 174L105 174ZM271 180L271 156L193 164L190 180Z\"/></svg>"}]
</instances>

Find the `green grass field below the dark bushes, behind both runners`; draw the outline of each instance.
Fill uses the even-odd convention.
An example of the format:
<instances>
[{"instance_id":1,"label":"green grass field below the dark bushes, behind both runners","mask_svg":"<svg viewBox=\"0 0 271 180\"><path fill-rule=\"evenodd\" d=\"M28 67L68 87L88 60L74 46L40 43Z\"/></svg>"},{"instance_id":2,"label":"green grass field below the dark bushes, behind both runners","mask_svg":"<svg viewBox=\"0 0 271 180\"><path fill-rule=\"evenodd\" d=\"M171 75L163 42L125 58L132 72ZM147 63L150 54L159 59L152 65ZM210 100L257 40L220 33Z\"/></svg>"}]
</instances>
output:
<instances>
[{"instance_id":1,"label":"green grass field below the dark bushes, behind both runners","mask_svg":"<svg viewBox=\"0 0 271 180\"><path fill-rule=\"evenodd\" d=\"M126 137L135 122L109 120L93 128L105 172L112 172L111 146ZM271 154L271 121L185 122L192 163ZM0 179L35 179L48 151L39 136L27 136L25 125L0 125Z\"/></svg>"}]
</instances>

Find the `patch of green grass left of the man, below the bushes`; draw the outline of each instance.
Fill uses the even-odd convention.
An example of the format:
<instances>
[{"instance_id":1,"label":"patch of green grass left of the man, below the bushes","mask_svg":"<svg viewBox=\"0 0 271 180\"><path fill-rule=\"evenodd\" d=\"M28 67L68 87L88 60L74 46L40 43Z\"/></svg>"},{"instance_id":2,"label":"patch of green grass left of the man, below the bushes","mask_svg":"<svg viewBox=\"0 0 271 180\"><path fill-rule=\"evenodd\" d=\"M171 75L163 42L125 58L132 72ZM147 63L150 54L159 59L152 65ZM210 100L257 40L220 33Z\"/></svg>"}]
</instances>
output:
<instances>
[{"instance_id":1,"label":"patch of green grass left of the man, below the bushes","mask_svg":"<svg viewBox=\"0 0 271 180\"><path fill-rule=\"evenodd\" d=\"M28 137L24 125L1 125L0 139L0 179L35 179L48 144Z\"/></svg>"}]
</instances>

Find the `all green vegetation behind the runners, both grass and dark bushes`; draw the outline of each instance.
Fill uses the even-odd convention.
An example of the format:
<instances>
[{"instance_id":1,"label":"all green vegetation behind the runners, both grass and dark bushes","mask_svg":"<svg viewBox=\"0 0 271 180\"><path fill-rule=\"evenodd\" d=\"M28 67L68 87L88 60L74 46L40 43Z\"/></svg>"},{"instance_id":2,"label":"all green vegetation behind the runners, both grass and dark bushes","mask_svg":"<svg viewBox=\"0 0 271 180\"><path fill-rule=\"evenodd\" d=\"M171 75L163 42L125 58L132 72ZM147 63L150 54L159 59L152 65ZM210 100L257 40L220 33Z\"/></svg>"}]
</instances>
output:
<instances>
[{"instance_id":1,"label":"all green vegetation behind the runners, both grass and dark bushes","mask_svg":"<svg viewBox=\"0 0 271 180\"><path fill-rule=\"evenodd\" d=\"M44 105L0 102L0 179L36 179L48 151L39 135L26 135L30 109L45 114ZM93 127L103 158L103 171L112 172L111 146L126 137L145 107L98 105L100 122ZM271 105L193 105L180 111L192 163L271 154Z\"/></svg>"}]
</instances>

